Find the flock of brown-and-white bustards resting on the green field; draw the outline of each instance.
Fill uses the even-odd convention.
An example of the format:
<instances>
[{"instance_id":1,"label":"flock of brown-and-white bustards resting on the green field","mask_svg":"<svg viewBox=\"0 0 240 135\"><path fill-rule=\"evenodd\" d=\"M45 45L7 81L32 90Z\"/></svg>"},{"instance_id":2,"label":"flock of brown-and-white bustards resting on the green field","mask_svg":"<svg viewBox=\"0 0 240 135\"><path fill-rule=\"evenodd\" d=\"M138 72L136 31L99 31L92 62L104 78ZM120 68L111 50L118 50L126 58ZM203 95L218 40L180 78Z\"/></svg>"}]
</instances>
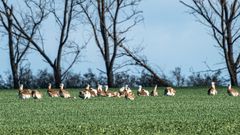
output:
<instances>
[{"instance_id":1,"label":"flock of brown-and-white bustards resting on the green field","mask_svg":"<svg viewBox=\"0 0 240 135\"><path fill-rule=\"evenodd\" d=\"M231 85L228 85L227 92L230 96L239 96L239 92L233 89ZM59 89L52 89L51 84L49 84L47 93L50 97L76 98L71 96L69 91L64 89L64 84L60 84ZM217 95L217 93L218 91L215 87L215 83L212 82L211 87L208 89L208 95ZM151 92L143 89L142 86L140 85L137 91L137 95L138 96L158 96L157 85L154 87L154 89ZM164 90L164 95L175 96L176 90L173 89L172 87L166 87ZM23 89L23 85L21 84L18 90L18 96L21 99L29 99L29 98L41 99L43 97L43 94L38 90ZM132 92L132 90L128 87L128 85L120 88L118 91L110 91L107 85L105 85L104 90L102 85L98 85L97 89L94 89L90 85L87 85L86 88L79 91L79 97L82 99L89 99L97 96L119 97L119 98L125 97L126 99L129 99L129 100L135 99L135 95Z\"/></svg>"}]
</instances>

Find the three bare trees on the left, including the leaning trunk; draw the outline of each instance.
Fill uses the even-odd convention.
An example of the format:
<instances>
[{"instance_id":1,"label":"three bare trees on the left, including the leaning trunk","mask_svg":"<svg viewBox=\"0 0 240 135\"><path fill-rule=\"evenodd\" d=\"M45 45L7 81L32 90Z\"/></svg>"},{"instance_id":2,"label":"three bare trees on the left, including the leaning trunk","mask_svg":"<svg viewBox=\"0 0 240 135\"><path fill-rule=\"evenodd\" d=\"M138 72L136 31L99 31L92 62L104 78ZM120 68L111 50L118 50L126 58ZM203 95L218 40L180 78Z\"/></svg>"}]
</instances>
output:
<instances>
[{"instance_id":1,"label":"three bare trees on the left, including the leaning trunk","mask_svg":"<svg viewBox=\"0 0 240 135\"><path fill-rule=\"evenodd\" d=\"M69 70L79 62L81 51L88 41L77 42L73 36L81 29L80 24L88 25L105 63L109 86L114 86L114 72L126 65L140 65L154 74L162 85L168 85L139 56L127 47L127 33L143 20L138 9L141 0L1 0L1 32L7 37L13 86L19 85L19 67L28 52L38 52L43 61L53 70L56 86L66 79ZM46 50L45 23L57 25L53 45L57 50ZM46 24L45 24L46 25ZM123 49L122 49L123 48ZM52 58L52 53L55 58ZM50 57L51 56L51 57ZM126 57L123 59L123 57ZM63 64L63 58L71 58ZM128 59L130 58L130 59ZM117 62L122 59L125 61ZM119 60L120 61L120 60ZM135 62L136 61L136 62Z\"/></svg>"}]
</instances>

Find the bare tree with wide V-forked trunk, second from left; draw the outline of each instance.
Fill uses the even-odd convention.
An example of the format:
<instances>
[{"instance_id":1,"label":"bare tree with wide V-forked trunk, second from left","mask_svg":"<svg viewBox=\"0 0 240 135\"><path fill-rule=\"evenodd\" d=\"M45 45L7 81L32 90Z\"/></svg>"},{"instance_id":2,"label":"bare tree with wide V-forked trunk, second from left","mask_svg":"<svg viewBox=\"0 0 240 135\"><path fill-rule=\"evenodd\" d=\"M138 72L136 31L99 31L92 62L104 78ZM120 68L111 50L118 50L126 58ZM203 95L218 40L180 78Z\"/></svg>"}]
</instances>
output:
<instances>
[{"instance_id":1,"label":"bare tree with wide V-forked trunk, second from left","mask_svg":"<svg viewBox=\"0 0 240 135\"><path fill-rule=\"evenodd\" d=\"M59 1L58 1L59 2ZM44 3L44 4L43 4ZM61 2L60 2L61 3ZM28 15L30 23L32 23L32 29L36 28L38 34L35 38L31 36L31 33L26 31L24 27L19 23L20 19L17 15L12 14L14 23L13 26L18 30L22 37L31 43L33 49L40 53L44 58L44 61L50 65L53 69L55 85L59 86L67 72L72 68L72 66L78 62L80 56L80 50L83 46L79 46L74 41L70 41L70 32L73 29L73 19L77 18L77 12L75 8L74 0L64 0L63 10L57 10L55 7L54 0L25 0L25 4L30 11ZM7 4L6 4L7 5ZM7 6L9 8L9 6ZM58 7L59 8L59 7ZM10 8L9 8L10 9ZM61 14L60 14L61 13ZM46 19L50 14L52 14L59 26L60 35L58 42L58 50L56 58L52 60L50 54L47 54L44 47L44 37L42 37L42 31L40 25L42 21ZM62 71L62 58L71 55L72 60L68 60L68 66Z\"/></svg>"}]
</instances>

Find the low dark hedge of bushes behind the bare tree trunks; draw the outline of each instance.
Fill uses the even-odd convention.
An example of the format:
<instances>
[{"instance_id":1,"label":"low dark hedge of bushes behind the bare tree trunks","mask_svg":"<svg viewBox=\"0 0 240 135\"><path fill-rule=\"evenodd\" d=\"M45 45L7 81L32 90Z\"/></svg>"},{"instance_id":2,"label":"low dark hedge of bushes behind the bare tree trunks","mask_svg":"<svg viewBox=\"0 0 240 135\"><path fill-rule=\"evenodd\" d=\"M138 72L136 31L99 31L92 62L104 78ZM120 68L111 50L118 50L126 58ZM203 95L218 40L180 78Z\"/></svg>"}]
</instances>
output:
<instances>
[{"instance_id":1,"label":"low dark hedge of bushes behind the bare tree trunks","mask_svg":"<svg viewBox=\"0 0 240 135\"><path fill-rule=\"evenodd\" d=\"M6 78L0 76L0 89L12 88L13 78L10 73L6 73ZM20 68L19 73L20 79L23 85L27 88L47 88L49 83L54 83L54 75L48 72L47 69L39 70L36 75L34 75L29 66ZM177 67L171 71L170 76L162 75L163 80L168 82L170 85L176 87L185 86L210 86L211 81L214 81L216 85L225 85L225 79L221 77L221 72L215 73L192 73L188 77L185 77L181 68ZM83 88L87 84L92 87L97 87L98 84L106 85L107 78L104 74L96 75L91 69L84 74L76 74L73 72L68 72L63 83L68 88ZM142 85L143 87L154 87L156 84L159 86L159 81L149 72L142 70L138 75L130 74L129 72L119 72L114 75L114 80L116 87L122 87L129 85L130 87L138 87Z\"/></svg>"}]
</instances>

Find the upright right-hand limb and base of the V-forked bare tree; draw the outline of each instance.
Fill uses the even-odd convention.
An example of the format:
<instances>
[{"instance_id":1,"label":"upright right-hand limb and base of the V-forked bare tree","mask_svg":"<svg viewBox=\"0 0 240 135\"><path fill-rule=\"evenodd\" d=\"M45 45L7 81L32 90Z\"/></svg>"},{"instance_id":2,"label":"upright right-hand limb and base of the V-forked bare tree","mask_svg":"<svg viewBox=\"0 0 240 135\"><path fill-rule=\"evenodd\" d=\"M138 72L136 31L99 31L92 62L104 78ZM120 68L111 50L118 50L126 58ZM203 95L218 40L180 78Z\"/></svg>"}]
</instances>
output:
<instances>
[{"instance_id":1,"label":"upright right-hand limb and base of the V-forked bare tree","mask_svg":"<svg viewBox=\"0 0 240 135\"><path fill-rule=\"evenodd\" d=\"M52 4L54 5L55 1L52 1ZM59 29L61 31L60 33L60 39L59 39L59 45L58 45L58 51L57 51L57 57L54 60L54 63L51 63L51 66L54 70L54 79L56 85L59 85L61 81L66 77L67 72L72 68L72 66L78 61L78 58L80 56L80 51L85 47L79 46L74 41L69 41L69 35L70 31L72 30L73 21L78 18L77 15L79 14L79 11L76 9L76 1L75 0L64 0L64 10L63 10L63 18L61 19L62 15L58 15L56 8L52 8L51 13L53 13L57 24L59 26ZM65 50L64 50L65 47ZM71 51L66 51L66 48L70 48ZM74 49L74 50L73 50ZM63 52L64 51L64 52ZM73 60L69 64L69 66L66 68L65 71L62 70L62 55L66 54L74 54ZM52 65L53 64L53 65Z\"/></svg>"}]
</instances>

